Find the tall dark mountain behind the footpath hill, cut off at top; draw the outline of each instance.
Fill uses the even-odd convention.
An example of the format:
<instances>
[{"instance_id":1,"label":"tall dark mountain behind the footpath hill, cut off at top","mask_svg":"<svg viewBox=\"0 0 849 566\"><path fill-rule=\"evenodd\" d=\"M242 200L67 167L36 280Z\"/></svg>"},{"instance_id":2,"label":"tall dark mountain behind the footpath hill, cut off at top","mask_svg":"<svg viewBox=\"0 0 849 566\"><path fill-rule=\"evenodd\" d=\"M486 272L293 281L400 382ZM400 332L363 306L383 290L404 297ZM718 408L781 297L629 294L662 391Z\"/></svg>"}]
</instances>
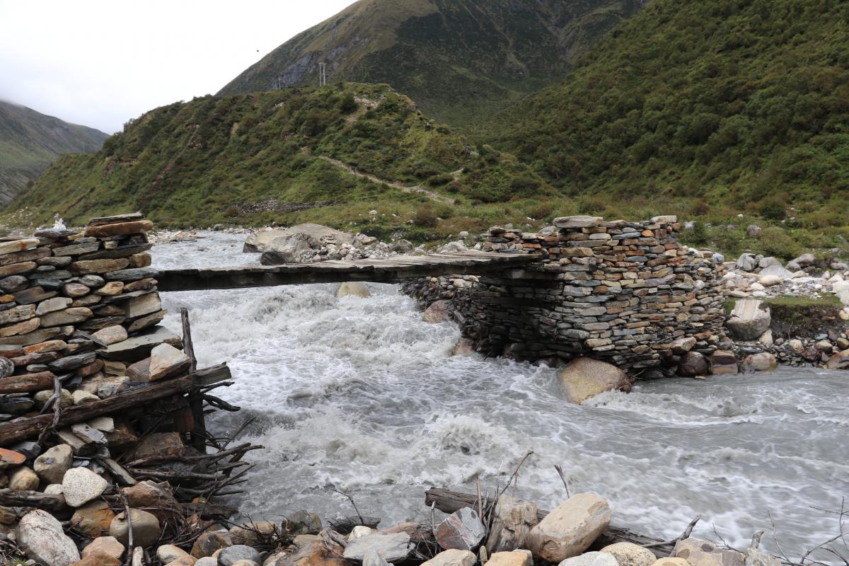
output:
<instances>
[{"instance_id":1,"label":"tall dark mountain behind the footpath hill, cut off at top","mask_svg":"<svg viewBox=\"0 0 849 566\"><path fill-rule=\"evenodd\" d=\"M565 75L644 0L360 0L295 36L221 91L388 83L437 120L475 116Z\"/></svg>"}]
</instances>

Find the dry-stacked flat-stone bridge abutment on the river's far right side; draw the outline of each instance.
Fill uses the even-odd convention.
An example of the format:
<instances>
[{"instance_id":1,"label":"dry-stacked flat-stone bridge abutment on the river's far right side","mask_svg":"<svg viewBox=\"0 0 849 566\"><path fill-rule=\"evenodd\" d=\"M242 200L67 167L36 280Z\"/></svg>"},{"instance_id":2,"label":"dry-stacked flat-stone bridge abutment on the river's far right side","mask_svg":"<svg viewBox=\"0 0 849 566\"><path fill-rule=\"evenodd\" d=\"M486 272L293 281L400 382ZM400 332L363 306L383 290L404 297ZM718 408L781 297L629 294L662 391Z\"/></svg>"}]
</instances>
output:
<instances>
[{"instance_id":1,"label":"dry-stacked flat-stone bridge abutment on the river's far right side","mask_svg":"<svg viewBox=\"0 0 849 566\"><path fill-rule=\"evenodd\" d=\"M480 350L526 360L592 356L633 373L673 367L674 343L692 337L691 350L709 355L724 321L722 258L683 247L680 229L675 216L565 216L539 233L493 227L479 249L534 253L540 263L462 287L456 277L445 280L450 289L430 285L452 299Z\"/></svg>"}]
</instances>

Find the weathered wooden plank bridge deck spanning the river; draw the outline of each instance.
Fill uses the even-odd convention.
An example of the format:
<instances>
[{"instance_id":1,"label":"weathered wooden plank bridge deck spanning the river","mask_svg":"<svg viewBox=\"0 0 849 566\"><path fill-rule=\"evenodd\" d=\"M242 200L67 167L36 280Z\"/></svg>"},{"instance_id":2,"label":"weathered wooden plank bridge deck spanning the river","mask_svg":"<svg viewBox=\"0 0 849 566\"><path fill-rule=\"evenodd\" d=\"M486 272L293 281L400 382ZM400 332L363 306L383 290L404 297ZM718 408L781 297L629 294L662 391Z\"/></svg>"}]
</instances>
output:
<instances>
[{"instance_id":1,"label":"weathered wooden plank bridge deck spanning the river","mask_svg":"<svg viewBox=\"0 0 849 566\"><path fill-rule=\"evenodd\" d=\"M303 283L370 281L394 283L412 277L484 275L526 266L536 254L495 254L468 251L457 254L398 255L389 260L320 261L282 266L171 269L156 275L160 291L245 289Z\"/></svg>"}]
</instances>

